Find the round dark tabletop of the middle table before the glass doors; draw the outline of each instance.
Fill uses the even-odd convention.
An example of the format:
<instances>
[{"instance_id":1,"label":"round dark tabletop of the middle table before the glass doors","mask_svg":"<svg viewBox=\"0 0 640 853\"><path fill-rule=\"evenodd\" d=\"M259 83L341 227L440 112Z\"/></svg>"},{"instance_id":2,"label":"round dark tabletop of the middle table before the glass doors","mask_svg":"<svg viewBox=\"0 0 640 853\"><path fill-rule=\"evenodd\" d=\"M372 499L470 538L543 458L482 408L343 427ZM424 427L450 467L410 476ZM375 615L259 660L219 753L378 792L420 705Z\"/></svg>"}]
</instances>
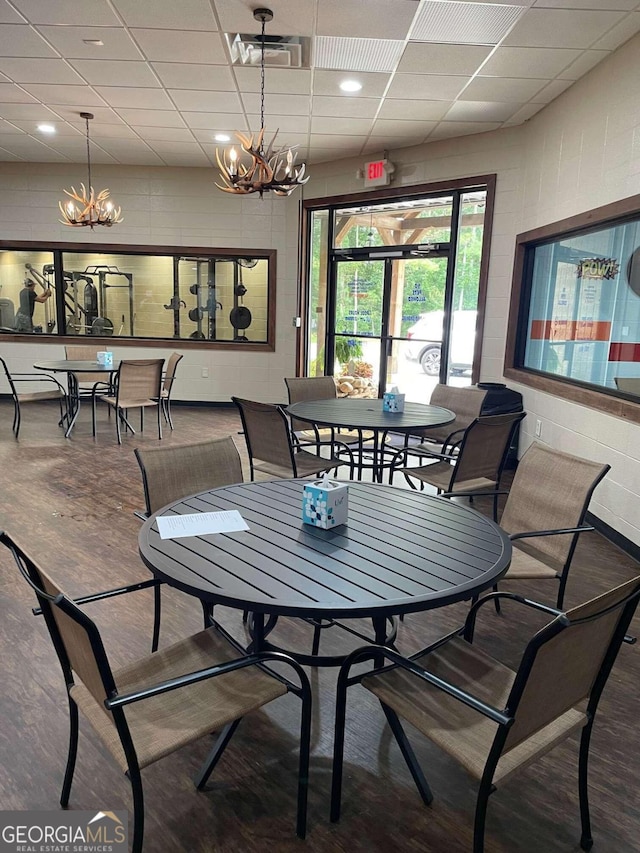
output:
<instances>
[{"instance_id":1,"label":"round dark tabletop of the middle table before the glass doors","mask_svg":"<svg viewBox=\"0 0 640 853\"><path fill-rule=\"evenodd\" d=\"M350 397L304 400L287 406L287 412L291 417L318 426L380 432L415 432L450 424L456 417L450 409L426 403L405 403L403 412L383 412L382 400Z\"/></svg>"}]
</instances>

